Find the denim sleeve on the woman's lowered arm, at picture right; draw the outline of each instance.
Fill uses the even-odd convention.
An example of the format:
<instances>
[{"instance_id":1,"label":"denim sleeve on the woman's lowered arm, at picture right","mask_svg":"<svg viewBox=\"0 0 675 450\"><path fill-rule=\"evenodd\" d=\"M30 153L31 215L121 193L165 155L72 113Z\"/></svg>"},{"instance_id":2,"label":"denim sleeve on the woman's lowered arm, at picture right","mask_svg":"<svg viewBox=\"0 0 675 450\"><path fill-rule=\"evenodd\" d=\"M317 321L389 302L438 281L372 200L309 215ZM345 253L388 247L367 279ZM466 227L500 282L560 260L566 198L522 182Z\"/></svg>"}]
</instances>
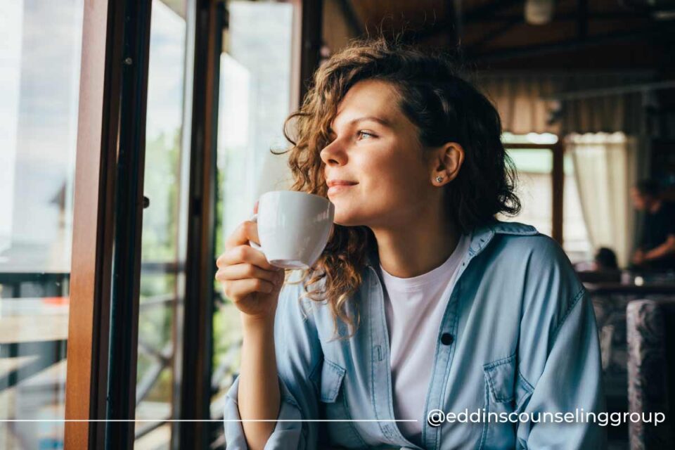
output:
<instances>
[{"instance_id":1,"label":"denim sleeve on the woman's lowered arm, at picture right","mask_svg":"<svg viewBox=\"0 0 675 450\"><path fill-rule=\"evenodd\" d=\"M560 245L546 236L533 240L518 341L516 405L529 413L530 421L518 423L518 446L604 449L606 427L567 423L563 416L572 413L577 420L577 410L579 415L605 411L591 298Z\"/></svg>"}]
</instances>

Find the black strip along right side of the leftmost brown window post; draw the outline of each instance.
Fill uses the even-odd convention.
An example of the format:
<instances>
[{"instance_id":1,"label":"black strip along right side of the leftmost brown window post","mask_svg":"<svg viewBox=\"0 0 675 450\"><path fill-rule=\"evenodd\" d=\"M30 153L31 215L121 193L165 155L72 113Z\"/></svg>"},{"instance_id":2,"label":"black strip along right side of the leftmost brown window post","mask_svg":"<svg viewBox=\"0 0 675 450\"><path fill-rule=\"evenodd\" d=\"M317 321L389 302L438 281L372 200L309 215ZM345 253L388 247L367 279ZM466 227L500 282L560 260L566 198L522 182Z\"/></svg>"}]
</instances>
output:
<instances>
[{"instance_id":1,"label":"black strip along right side of the leftmost brown window post","mask_svg":"<svg viewBox=\"0 0 675 450\"><path fill-rule=\"evenodd\" d=\"M110 306L106 418L136 416L143 172L150 50L151 0L124 1L120 133L115 186L115 238ZM133 449L134 422L105 423L106 449Z\"/></svg>"}]
</instances>

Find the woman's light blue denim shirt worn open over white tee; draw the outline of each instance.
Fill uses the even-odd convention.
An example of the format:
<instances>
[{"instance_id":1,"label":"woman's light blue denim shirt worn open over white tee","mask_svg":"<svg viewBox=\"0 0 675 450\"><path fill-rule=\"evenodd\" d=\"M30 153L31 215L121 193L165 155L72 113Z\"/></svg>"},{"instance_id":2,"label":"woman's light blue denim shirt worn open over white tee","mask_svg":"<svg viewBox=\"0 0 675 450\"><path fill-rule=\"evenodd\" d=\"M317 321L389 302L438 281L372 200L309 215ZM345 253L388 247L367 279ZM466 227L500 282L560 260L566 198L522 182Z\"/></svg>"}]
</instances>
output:
<instances>
[{"instance_id":1,"label":"woman's light blue denim shirt worn open over white tee","mask_svg":"<svg viewBox=\"0 0 675 450\"><path fill-rule=\"evenodd\" d=\"M583 418L604 411L605 397L593 307L555 241L514 222L494 221L473 232L429 349L431 378L420 380L428 384L421 445L394 422L383 287L370 261L349 302L352 316L359 304L361 324L348 340L332 339L326 302L299 300L302 284L284 286L274 329L281 421L265 449L605 448L602 426L560 423L562 413ZM342 322L338 331L348 334ZM226 397L228 449L247 448L237 395L238 379ZM460 423L458 416L432 426L427 414L435 409L496 416L478 423ZM495 420L499 413L543 412L558 416ZM308 419L331 421L299 421Z\"/></svg>"}]
</instances>

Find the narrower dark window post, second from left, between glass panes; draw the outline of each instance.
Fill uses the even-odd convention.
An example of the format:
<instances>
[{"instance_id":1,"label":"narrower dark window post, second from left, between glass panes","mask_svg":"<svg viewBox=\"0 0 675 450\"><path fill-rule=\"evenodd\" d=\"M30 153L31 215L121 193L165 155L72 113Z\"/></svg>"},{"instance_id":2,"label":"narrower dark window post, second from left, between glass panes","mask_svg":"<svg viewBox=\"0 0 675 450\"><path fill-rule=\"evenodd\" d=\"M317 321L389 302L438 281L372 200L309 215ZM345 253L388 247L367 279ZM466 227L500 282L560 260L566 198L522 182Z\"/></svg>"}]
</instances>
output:
<instances>
[{"instance_id":1,"label":"narrower dark window post, second from left, between glass panes","mask_svg":"<svg viewBox=\"0 0 675 450\"><path fill-rule=\"evenodd\" d=\"M180 417L210 419L219 68L224 5L196 1ZM180 449L207 449L206 422L183 423Z\"/></svg>"}]
</instances>

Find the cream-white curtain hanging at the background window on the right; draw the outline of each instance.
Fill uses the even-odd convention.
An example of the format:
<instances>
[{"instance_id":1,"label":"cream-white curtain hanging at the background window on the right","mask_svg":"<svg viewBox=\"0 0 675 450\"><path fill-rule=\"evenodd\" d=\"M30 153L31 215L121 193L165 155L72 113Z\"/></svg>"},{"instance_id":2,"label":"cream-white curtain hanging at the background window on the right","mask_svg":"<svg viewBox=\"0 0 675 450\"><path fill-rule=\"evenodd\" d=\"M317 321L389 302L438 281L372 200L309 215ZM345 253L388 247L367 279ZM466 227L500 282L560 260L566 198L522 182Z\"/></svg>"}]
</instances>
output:
<instances>
[{"instance_id":1,"label":"cream-white curtain hanging at the background window on the right","mask_svg":"<svg viewBox=\"0 0 675 450\"><path fill-rule=\"evenodd\" d=\"M636 139L612 134L570 134L565 150L574 162L581 210L594 249L608 247L626 266L634 235L629 189L636 181Z\"/></svg>"}]
</instances>

